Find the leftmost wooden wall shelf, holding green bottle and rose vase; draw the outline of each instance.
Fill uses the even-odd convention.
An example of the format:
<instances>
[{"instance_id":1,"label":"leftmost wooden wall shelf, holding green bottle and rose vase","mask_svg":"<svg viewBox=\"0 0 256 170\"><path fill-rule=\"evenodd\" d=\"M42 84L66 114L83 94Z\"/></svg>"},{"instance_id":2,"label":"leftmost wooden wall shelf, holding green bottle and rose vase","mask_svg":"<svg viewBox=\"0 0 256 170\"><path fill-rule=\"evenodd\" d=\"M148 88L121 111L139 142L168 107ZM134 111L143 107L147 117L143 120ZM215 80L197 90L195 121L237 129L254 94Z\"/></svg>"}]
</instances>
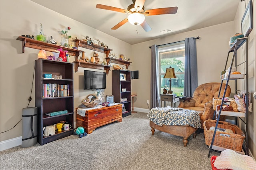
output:
<instances>
[{"instance_id":1,"label":"leftmost wooden wall shelf, holding green bottle and rose vase","mask_svg":"<svg viewBox=\"0 0 256 170\"><path fill-rule=\"evenodd\" d=\"M22 53L25 52L25 47L33 48L33 49L39 49L39 50L45 50L45 51L51 51L55 53L60 53L58 49L62 48L64 51L68 51L68 55L76 56L76 58L79 56L80 50L77 49L71 49L68 47L63 47L56 44L46 43L43 41L38 41L35 39L27 38L19 36L17 40L22 41Z\"/></svg>"}]
</instances>

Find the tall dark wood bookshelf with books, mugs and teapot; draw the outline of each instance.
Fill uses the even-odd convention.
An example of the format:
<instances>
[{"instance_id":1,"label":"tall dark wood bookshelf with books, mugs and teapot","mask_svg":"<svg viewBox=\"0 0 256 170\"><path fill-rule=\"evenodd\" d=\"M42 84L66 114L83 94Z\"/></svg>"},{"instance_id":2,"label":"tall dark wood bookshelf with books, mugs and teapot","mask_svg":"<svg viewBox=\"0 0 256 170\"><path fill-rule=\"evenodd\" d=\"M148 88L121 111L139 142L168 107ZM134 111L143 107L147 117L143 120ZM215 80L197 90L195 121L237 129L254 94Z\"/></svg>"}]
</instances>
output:
<instances>
[{"instance_id":1,"label":"tall dark wood bookshelf with books, mugs and teapot","mask_svg":"<svg viewBox=\"0 0 256 170\"><path fill-rule=\"evenodd\" d=\"M73 63L38 59L35 61L35 104L38 107L38 143L46 143L74 134L74 92L73 92ZM62 79L44 79L43 74L62 75ZM43 84L68 84L70 96L43 97ZM48 116L45 113L67 110L68 113ZM43 127L66 121L72 126L67 131L56 131L54 135L44 137Z\"/></svg>"}]
</instances>

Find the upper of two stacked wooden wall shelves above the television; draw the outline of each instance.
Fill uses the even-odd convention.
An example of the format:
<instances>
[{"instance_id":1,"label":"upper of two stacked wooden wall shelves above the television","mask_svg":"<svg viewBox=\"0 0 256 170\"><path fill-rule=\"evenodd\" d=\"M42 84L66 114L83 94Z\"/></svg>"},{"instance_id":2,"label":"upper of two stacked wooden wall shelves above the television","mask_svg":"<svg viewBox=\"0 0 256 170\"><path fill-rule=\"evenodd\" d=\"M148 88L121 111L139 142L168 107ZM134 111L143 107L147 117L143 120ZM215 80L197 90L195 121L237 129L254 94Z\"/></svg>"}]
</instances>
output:
<instances>
[{"instance_id":1,"label":"upper of two stacked wooden wall shelves above the television","mask_svg":"<svg viewBox=\"0 0 256 170\"><path fill-rule=\"evenodd\" d=\"M87 43L87 41L81 40L81 39L74 39L74 42L76 42L76 47L83 47L85 49L90 49L90 50L94 50L94 51L98 51L100 53L105 53L106 57L108 57L110 51L112 51L112 49L106 48L106 47L102 47L100 45L94 44L94 45L90 45ZM78 60L78 57L76 58L76 61Z\"/></svg>"}]
</instances>

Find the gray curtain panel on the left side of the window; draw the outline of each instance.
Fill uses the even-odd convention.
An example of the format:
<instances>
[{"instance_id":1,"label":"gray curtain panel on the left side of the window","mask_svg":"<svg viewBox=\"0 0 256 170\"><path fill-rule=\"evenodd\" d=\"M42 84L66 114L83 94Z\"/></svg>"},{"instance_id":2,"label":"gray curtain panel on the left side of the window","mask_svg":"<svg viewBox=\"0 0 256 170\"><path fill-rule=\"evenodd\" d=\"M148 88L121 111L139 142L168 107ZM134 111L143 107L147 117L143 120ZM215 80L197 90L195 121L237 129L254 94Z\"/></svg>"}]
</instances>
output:
<instances>
[{"instance_id":1,"label":"gray curtain panel on the left side of the window","mask_svg":"<svg viewBox=\"0 0 256 170\"><path fill-rule=\"evenodd\" d=\"M151 81L150 81L150 109L160 107L158 47L151 46Z\"/></svg>"}]
</instances>

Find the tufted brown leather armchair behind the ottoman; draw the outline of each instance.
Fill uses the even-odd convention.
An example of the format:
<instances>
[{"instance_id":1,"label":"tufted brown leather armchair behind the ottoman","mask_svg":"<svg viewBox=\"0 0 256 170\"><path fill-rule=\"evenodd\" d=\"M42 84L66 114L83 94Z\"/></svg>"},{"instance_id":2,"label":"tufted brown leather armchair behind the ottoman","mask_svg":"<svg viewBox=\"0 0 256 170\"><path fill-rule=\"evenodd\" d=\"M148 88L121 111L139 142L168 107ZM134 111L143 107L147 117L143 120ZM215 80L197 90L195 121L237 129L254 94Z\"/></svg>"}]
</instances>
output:
<instances>
[{"instance_id":1,"label":"tufted brown leather armchair behind the ottoman","mask_svg":"<svg viewBox=\"0 0 256 170\"><path fill-rule=\"evenodd\" d=\"M193 98L190 100L180 100L178 107L198 111L201 119L201 128L205 120L212 119L214 116L214 109L212 107L212 99L217 98L220 90L220 84L217 82L201 84L196 88ZM226 84L222 83L220 98L223 96ZM229 97L231 93L230 86L228 85L225 97ZM225 121L225 116L220 116L221 121Z\"/></svg>"}]
</instances>

